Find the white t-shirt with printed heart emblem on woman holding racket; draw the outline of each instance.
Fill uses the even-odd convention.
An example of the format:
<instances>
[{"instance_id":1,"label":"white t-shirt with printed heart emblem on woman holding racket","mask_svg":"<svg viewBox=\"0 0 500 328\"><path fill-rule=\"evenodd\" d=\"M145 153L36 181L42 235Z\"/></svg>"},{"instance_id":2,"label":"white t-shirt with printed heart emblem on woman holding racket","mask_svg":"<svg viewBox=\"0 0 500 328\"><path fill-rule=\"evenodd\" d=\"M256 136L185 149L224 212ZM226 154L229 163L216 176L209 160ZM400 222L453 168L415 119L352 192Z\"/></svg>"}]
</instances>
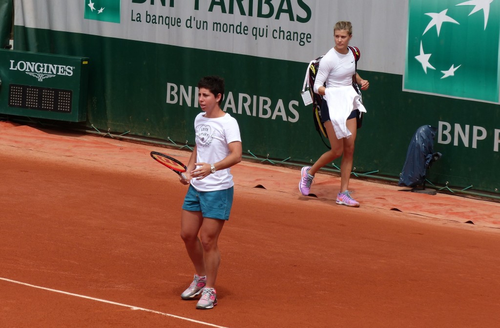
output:
<instances>
[{"instance_id":1,"label":"white t-shirt with printed heart emblem on woman holding racket","mask_svg":"<svg viewBox=\"0 0 500 328\"><path fill-rule=\"evenodd\" d=\"M222 117L206 118L200 112L194 119L196 134L196 163L213 164L229 154L228 143L241 141L239 126L228 113ZM229 168L208 174L201 180L191 179L191 185L198 191L224 190L232 187L232 175Z\"/></svg>"}]
</instances>

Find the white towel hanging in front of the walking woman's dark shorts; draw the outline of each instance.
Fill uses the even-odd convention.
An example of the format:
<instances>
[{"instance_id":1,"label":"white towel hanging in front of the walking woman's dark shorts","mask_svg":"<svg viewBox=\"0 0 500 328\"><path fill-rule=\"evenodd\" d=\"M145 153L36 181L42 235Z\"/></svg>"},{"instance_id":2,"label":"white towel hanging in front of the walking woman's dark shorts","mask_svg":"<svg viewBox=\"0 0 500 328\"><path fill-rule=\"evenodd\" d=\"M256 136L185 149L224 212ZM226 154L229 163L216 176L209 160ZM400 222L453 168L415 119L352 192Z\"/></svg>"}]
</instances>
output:
<instances>
[{"instance_id":1,"label":"white towel hanging in front of the walking woman's dark shorts","mask_svg":"<svg viewBox=\"0 0 500 328\"><path fill-rule=\"evenodd\" d=\"M352 133L345 124L347 117L353 109L359 109L360 112L366 112L366 109L359 101L359 94L352 85L327 87L325 89L326 103L330 120L335 130L337 139L348 138Z\"/></svg>"}]
</instances>

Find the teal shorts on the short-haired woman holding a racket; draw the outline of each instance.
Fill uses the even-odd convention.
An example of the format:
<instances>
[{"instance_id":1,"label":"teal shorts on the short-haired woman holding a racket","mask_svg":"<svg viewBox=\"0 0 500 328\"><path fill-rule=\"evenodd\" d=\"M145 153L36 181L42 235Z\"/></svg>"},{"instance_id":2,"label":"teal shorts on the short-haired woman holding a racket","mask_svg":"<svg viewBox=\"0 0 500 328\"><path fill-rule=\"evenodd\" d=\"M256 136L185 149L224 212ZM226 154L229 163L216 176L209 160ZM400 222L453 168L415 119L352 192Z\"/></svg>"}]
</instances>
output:
<instances>
[{"instance_id":1,"label":"teal shorts on the short-haired woman holding a racket","mask_svg":"<svg viewBox=\"0 0 500 328\"><path fill-rule=\"evenodd\" d=\"M189 185L182 209L201 212L203 217L228 220L234 187L216 191L198 191Z\"/></svg>"}]
</instances>

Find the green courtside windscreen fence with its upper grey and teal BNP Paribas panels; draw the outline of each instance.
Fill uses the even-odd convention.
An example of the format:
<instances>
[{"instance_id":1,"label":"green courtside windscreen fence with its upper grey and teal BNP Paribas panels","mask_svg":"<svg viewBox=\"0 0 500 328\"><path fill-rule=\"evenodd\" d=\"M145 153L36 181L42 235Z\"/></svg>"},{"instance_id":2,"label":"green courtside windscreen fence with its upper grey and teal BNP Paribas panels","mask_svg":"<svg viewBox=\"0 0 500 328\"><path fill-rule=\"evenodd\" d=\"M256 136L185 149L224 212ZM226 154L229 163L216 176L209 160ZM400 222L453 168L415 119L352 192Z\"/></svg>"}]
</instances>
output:
<instances>
[{"instance_id":1,"label":"green courtside windscreen fence with its upper grey and teal BNP Paribas panels","mask_svg":"<svg viewBox=\"0 0 500 328\"><path fill-rule=\"evenodd\" d=\"M397 179L412 135L431 125L442 157L428 180L500 195L499 1L487 17L452 0L104 2L14 1L16 50L89 58L87 128L193 144L196 82L217 74L245 153L315 161L326 147L300 96L304 74L334 45L333 23L350 20L370 81L355 172ZM487 51L464 46L474 37Z\"/></svg>"}]
</instances>

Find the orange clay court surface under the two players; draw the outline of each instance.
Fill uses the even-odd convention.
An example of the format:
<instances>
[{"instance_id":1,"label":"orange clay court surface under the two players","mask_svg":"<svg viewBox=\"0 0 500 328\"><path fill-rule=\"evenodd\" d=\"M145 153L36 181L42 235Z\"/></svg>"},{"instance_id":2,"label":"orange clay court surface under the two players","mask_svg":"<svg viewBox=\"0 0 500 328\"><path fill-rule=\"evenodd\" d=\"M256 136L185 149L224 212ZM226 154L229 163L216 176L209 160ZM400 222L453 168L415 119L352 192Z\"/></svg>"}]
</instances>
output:
<instances>
[{"instance_id":1,"label":"orange clay court surface under the two players","mask_svg":"<svg viewBox=\"0 0 500 328\"><path fill-rule=\"evenodd\" d=\"M1 327L498 327L500 204L353 177L349 208L336 175L305 197L298 169L248 161L196 310L186 186L151 150L190 154L0 122Z\"/></svg>"}]
</instances>

